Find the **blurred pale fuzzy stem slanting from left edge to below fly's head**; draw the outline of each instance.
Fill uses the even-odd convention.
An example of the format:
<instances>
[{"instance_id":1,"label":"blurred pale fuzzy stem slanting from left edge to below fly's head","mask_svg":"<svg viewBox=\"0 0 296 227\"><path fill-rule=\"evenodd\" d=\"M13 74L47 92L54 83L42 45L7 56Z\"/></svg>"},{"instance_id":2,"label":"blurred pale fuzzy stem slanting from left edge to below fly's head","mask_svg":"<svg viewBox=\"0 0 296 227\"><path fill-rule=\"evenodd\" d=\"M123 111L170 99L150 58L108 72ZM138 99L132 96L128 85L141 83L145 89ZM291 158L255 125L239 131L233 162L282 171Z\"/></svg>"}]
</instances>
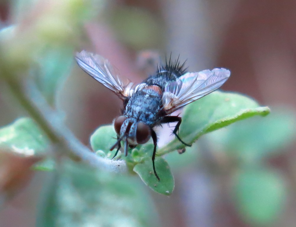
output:
<instances>
[{"instance_id":1,"label":"blurred pale fuzzy stem slanting from left edge to below fly's head","mask_svg":"<svg viewBox=\"0 0 296 227\"><path fill-rule=\"evenodd\" d=\"M126 171L124 161L104 159L84 146L68 129L57 112L49 107L44 96L32 80L20 83L19 80L12 76L5 76L4 80L13 95L44 131L52 144L61 148L59 150L67 152L70 157L74 155L100 169L115 172Z\"/></svg>"}]
</instances>

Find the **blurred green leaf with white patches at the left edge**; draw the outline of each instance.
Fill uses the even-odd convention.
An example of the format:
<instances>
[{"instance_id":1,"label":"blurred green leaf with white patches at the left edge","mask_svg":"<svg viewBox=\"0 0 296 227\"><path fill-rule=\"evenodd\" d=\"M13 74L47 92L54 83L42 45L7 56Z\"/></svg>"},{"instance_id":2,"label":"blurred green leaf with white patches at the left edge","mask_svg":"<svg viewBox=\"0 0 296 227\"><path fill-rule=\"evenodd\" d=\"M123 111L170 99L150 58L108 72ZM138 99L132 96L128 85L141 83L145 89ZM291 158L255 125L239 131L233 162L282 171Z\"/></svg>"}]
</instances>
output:
<instances>
[{"instance_id":1,"label":"blurred green leaf with white patches at the left edge","mask_svg":"<svg viewBox=\"0 0 296 227\"><path fill-rule=\"evenodd\" d=\"M0 147L32 156L45 153L49 140L32 119L20 118L0 129Z\"/></svg>"}]
</instances>

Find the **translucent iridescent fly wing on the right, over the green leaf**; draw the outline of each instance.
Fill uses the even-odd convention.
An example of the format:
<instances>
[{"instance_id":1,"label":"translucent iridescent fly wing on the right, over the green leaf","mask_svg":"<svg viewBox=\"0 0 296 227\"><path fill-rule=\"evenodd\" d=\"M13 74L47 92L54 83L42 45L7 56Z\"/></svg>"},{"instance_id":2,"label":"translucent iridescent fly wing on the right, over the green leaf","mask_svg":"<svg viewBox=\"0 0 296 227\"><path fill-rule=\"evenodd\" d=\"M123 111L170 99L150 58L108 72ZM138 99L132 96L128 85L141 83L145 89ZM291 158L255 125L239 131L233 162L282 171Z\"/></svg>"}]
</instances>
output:
<instances>
[{"instance_id":1,"label":"translucent iridescent fly wing on the right, over the green leaf","mask_svg":"<svg viewBox=\"0 0 296 227\"><path fill-rule=\"evenodd\" d=\"M230 71L214 68L195 73L185 73L176 81L168 82L163 92L163 107L167 114L215 91L229 78Z\"/></svg>"}]
</instances>

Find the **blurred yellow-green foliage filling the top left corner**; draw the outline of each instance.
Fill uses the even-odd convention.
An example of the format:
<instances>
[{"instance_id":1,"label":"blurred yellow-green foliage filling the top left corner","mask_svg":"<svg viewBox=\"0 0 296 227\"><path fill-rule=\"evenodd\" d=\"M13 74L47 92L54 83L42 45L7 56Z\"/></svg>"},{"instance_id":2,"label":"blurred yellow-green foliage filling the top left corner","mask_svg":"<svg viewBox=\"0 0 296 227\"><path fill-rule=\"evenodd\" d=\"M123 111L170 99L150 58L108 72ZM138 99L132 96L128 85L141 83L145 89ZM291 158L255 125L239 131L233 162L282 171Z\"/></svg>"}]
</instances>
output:
<instances>
[{"instance_id":1,"label":"blurred yellow-green foliage filling the top left corner","mask_svg":"<svg viewBox=\"0 0 296 227\"><path fill-rule=\"evenodd\" d=\"M14 1L16 24L0 33L0 76L33 78L54 106L57 87L73 63L83 23L104 1Z\"/></svg>"}]
</instances>

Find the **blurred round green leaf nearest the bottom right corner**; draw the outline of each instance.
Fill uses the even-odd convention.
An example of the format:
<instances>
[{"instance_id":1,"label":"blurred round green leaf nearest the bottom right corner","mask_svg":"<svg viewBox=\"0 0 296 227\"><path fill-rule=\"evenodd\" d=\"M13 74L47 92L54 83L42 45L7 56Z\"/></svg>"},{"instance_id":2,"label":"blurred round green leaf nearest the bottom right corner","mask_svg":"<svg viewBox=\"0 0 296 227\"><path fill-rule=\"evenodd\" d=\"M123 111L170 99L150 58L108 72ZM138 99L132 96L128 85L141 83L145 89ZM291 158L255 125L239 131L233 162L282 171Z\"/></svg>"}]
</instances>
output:
<instances>
[{"instance_id":1,"label":"blurred round green leaf nearest the bottom right corner","mask_svg":"<svg viewBox=\"0 0 296 227\"><path fill-rule=\"evenodd\" d=\"M269 169L247 169L234 178L234 201L242 218L269 226L283 213L287 186L283 176Z\"/></svg>"}]
</instances>

